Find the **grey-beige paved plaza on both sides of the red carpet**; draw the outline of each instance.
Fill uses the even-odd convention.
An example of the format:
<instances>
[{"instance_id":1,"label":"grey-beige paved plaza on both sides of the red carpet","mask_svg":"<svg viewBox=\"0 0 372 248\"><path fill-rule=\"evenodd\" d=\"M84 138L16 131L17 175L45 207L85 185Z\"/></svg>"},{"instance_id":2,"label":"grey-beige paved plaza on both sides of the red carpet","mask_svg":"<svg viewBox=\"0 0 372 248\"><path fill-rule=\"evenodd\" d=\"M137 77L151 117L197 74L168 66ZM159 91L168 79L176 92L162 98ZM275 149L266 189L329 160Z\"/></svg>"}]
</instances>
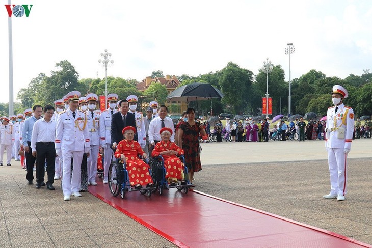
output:
<instances>
[{"instance_id":1,"label":"grey-beige paved plaza on both sides of the red carpet","mask_svg":"<svg viewBox=\"0 0 372 248\"><path fill-rule=\"evenodd\" d=\"M344 202L322 198L323 141L202 144L195 189L372 244L371 146L352 143ZM176 247L89 192L66 202L59 187L27 185L19 162L0 167L0 187L0 247Z\"/></svg>"}]
</instances>

